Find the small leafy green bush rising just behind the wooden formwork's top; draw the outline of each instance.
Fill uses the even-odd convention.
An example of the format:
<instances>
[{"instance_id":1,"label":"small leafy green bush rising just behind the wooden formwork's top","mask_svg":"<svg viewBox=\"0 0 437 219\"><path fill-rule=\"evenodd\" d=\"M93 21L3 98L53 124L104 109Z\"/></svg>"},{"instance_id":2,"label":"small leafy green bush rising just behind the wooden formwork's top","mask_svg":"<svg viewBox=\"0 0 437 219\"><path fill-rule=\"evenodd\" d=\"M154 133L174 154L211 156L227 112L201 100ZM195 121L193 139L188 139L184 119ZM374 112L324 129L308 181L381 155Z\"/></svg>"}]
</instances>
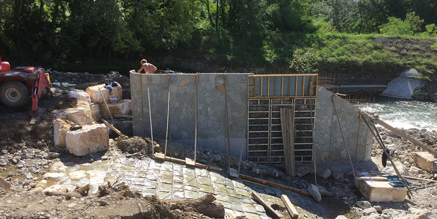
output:
<instances>
[{"instance_id":1,"label":"small leafy green bush rising just behind the wooden formwork's top","mask_svg":"<svg viewBox=\"0 0 437 219\"><path fill-rule=\"evenodd\" d=\"M290 60L292 72L299 74L317 73L315 68L317 63L316 46L312 44L305 53L301 54L302 49L296 49L293 53L293 59Z\"/></svg>"}]
</instances>

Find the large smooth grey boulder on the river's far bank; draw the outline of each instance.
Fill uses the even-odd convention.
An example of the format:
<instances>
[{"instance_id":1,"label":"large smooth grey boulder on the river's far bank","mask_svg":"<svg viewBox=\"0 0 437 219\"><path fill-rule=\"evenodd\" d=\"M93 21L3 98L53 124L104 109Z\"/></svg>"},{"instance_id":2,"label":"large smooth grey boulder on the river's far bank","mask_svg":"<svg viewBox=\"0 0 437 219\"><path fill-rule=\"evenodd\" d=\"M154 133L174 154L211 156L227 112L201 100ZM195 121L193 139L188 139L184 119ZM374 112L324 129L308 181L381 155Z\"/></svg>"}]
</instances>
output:
<instances>
[{"instance_id":1,"label":"large smooth grey boulder on the river's far bank","mask_svg":"<svg viewBox=\"0 0 437 219\"><path fill-rule=\"evenodd\" d=\"M416 69L407 69L391 80L381 95L411 99L414 89L423 84L418 77L420 74Z\"/></svg>"}]
</instances>

